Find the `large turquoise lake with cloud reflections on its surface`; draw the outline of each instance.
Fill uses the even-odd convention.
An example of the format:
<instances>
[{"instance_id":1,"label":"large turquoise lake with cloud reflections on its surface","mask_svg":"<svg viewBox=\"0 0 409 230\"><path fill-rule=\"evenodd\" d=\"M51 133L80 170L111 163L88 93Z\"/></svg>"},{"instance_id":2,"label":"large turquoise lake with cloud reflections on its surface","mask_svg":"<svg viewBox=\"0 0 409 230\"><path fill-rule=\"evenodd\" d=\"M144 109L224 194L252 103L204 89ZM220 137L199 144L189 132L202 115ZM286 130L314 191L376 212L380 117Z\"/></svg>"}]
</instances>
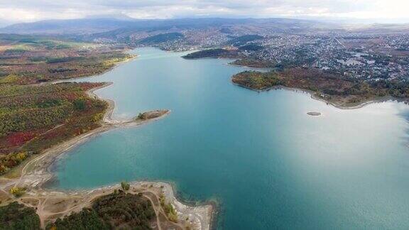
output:
<instances>
[{"instance_id":1,"label":"large turquoise lake with cloud reflections on its surface","mask_svg":"<svg viewBox=\"0 0 409 230\"><path fill-rule=\"evenodd\" d=\"M409 229L409 106L342 110L285 89L231 84L231 60L184 60L140 48L90 82L115 119L170 109L117 128L55 163L58 189L121 180L172 182L184 199L220 204L219 229ZM319 111L322 116L308 116Z\"/></svg>"}]
</instances>

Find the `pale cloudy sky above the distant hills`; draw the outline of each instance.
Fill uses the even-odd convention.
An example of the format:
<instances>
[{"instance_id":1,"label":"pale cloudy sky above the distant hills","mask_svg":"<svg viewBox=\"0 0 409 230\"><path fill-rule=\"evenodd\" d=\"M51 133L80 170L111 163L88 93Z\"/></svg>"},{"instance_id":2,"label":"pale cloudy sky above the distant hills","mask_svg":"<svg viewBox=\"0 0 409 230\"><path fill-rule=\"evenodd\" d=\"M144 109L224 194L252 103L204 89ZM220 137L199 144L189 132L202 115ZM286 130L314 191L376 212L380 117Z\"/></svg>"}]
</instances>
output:
<instances>
[{"instance_id":1,"label":"pale cloudy sky above the distant hills","mask_svg":"<svg viewBox=\"0 0 409 230\"><path fill-rule=\"evenodd\" d=\"M409 0L0 0L0 21L84 18L322 18L408 22Z\"/></svg>"}]
</instances>

